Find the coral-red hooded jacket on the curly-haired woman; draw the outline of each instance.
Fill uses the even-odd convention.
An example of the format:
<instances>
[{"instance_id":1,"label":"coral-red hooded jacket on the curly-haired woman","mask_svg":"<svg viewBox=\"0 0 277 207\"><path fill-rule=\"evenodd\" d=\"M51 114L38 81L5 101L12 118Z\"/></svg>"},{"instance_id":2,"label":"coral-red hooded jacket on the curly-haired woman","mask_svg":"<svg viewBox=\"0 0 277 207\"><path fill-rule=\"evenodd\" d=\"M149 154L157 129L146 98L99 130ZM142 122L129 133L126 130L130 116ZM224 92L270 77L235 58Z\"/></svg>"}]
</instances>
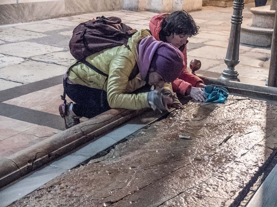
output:
<instances>
[{"instance_id":1,"label":"coral-red hooded jacket on the curly-haired woman","mask_svg":"<svg viewBox=\"0 0 277 207\"><path fill-rule=\"evenodd\" d=\"M154 16L149 23L149 28L151 31L151 34L153 37L155 37L156 40L160 40L159 38L159 32L161 30L161 24L162 20L168 15L168 13L158 14ZM199 81L201 83L204 83L198 76L195 76L187 69L187 46L185 46L184 50L182 51L184 54L184 71L181 73L180 77L177 78L172 83L172 89L176 93L185 94L188 87L196 86L196 83Z\"/></svg>"}]
</instances>

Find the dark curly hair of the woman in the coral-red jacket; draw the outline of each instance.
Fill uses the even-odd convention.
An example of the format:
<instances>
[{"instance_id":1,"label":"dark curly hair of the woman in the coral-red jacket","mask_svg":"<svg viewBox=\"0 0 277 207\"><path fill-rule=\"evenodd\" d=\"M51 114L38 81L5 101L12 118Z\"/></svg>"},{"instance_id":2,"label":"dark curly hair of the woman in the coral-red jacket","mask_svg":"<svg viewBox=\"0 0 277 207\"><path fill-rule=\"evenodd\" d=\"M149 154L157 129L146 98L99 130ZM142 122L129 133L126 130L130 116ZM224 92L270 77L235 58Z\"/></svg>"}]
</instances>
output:
<instances>
[{"instance_id":1,"label":"dark curly hair of the woman in the coral-red jacket","mask_svg":"<svg viewBox=\"0 0 277 207\"><path fill-rule=\"evenodd\" d=\"M198 34L198 30L199 26L196 26L188 12L185 10L174 11L162 20L159 38L161 41L166 42L166 37L174 33L186 34L191 37Z\"/></svg>"}]
</instances>

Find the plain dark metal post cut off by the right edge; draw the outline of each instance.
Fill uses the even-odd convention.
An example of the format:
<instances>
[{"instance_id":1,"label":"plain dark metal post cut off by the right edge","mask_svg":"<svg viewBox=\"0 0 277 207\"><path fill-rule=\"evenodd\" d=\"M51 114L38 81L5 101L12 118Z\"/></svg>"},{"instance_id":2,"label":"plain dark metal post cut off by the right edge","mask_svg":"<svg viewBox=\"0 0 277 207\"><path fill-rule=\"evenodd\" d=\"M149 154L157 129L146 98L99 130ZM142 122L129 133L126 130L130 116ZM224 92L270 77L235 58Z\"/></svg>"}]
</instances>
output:
<instances>
[{"instance_id":1,"label":"plain dark metal post cut off by the right edge","mask_svg":"<svg viewBox=\"0 0 277 207\"><path fill-rule=\"evenodd\" d=\"M276 4L277 5L277 4ZM271 58L268 73L268 86L277 87L277 6L275 10L275 22L271 44Z\"/></svg>"}]
</instances>

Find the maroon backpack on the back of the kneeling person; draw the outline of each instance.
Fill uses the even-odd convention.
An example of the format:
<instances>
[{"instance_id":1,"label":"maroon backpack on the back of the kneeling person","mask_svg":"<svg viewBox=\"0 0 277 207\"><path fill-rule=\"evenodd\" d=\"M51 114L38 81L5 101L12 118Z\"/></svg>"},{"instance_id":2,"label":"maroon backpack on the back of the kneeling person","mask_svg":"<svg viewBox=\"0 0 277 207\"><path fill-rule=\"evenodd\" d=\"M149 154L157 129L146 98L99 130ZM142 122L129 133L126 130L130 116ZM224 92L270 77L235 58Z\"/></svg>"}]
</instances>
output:
<instances>
[{"instance_id":1,"label":"maroon backpack on the back of the kneeling person","mask_svg":"<svg viewBox=\"0 0 277 207\"><path fill-rule=\"evenodd\" d=\"M126 45L137 30L121 22L118 17L97 17L79 24L69 42L70 53L79 61L103 49Z\"/></svg>"}]
</instances>

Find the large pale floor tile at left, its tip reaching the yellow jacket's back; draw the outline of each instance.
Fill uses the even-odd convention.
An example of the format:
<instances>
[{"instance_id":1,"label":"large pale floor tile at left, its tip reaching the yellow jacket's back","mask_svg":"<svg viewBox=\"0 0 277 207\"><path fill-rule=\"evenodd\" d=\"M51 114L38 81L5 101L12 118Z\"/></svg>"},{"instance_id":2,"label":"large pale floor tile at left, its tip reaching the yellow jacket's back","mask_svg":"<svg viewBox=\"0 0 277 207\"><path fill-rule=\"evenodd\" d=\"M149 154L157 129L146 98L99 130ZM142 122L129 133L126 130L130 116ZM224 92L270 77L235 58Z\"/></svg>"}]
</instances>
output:
<instances>
[{"instance_id":1,"label":"large pale floor tile at left, its tip reaching the yellow jacket's back","mask_svg":"<svg viewBox=\"0 0 277 207\"><path fill-rule=\"evenodd\" d=\"M66 69L67 67L61 65L29 60L21 64L0 68L0 77L19 83L33 83L62 75Z\"/></svg>"}]
</instances>

